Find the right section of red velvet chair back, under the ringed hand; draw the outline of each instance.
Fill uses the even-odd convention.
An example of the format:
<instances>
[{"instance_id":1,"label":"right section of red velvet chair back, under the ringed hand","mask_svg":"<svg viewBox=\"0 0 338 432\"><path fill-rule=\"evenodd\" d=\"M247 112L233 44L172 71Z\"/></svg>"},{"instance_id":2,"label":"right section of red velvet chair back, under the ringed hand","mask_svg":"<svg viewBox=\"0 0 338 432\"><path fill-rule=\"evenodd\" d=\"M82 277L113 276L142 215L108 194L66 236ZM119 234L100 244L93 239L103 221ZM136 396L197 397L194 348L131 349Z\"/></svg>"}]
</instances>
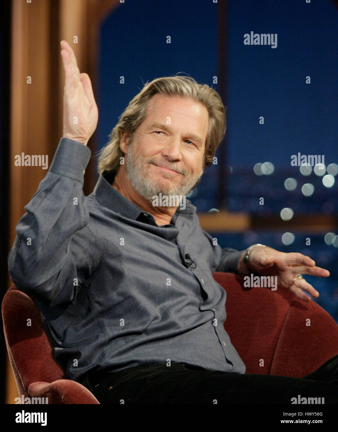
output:
<instances>
[{"instance_id":1,"label":"right section of red velvet chair back, under the ringed hand","mask_svg":"<svg viewBox=\"0 0 338 432\"><path fill-rule=\"evenodd\" d=\"M213 277L227 293L224 328L247 374L302 378L338 355L338 325L313 300L280 286L245 288L233 273Z\"/></svg>"}]
</instances>

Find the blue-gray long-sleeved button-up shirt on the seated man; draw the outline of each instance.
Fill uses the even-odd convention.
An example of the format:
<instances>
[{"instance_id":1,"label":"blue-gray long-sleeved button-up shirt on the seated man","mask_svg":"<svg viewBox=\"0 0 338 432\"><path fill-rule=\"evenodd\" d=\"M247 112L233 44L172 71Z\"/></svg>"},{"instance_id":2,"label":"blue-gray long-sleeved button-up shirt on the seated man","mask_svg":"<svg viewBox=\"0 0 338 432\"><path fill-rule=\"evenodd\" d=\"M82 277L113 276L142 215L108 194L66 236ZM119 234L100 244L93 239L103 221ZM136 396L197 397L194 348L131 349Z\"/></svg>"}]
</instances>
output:
<instances>
[{"instance_id":1,"label":"blue-gray long-sleeved button-up shirt on the seated man","mask_svg":"<svg viewBox=\"0 0 338 432\"><path fill-rule=\"evenodd\" d=\"M243 251L214 244L189 200L157 226L109 173L85 197L90 157L87 146L61 138L8 257L66 378L169 360L244 374L223 327L226 292L213 279L216 270L235 273Z\"/></svg>"}]
</instances>

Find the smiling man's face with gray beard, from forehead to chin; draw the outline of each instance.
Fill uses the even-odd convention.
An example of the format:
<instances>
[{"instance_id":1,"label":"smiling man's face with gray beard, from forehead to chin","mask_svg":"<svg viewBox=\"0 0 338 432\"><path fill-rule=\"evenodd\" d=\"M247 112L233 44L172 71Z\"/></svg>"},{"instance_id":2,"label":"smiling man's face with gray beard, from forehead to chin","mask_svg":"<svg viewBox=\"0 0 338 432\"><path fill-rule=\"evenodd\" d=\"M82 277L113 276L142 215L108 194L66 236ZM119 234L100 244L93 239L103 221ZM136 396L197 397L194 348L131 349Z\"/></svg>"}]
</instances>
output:
<instances>
[{"instance_id":1,"label":"smiling man's face with gray beard, from forehead to chin","mask_svg":"<svg viewBox=\"0 0 338 432\"><path fill-rule=\"evenodd\" d=\"M186 195L191 191L203 174L208 126L207 108L199 102L154 95L132 143L127 145L125 138L120 143L134 189L149 201L160 192Z\"/></svg>"}]
</instances>

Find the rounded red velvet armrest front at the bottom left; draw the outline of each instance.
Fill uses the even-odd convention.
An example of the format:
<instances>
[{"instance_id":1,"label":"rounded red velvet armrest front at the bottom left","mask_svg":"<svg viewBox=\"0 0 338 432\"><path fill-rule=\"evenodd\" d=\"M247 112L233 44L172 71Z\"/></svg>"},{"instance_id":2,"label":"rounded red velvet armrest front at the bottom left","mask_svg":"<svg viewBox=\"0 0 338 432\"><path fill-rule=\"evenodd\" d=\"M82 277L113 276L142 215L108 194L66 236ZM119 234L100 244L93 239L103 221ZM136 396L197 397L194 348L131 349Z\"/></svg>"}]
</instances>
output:
<instances>
[{"instance_id":1,"label":"rounded red velvet armrest front at the bottom left","mask_svg":"<svg viewBox=\"0 0 338 432\"><path fill-rule=\"evenodd\" d=\"M93 404L100 403L94 394L77 381L58 379L51 383L37 381L29 384L31 397L48 397L48 403Z\"/></svg>"}]
</instances>

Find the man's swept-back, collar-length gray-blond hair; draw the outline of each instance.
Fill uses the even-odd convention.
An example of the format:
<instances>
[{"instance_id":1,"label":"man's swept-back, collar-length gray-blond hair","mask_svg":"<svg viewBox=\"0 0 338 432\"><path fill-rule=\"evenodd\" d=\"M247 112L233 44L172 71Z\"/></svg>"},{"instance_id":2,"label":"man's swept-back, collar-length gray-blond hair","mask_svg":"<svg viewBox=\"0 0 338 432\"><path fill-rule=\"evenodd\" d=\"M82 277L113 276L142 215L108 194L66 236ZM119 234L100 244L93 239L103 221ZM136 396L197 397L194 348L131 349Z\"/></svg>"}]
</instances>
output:
<instances>
[{"instance_id":1,"label":"man's swept-back, collar-length gray-blond hair","mask_svg":"<svg viewBox=\"0 0 338 432\"><path fill-rule=\"evenodd\" d=\"M143 89L131 99L119 121L110 133L109 142L99 152L98 172L117 171L123 152L120 149L121 132L130 133L132 142L135 131L147 115L150 98L160 93L165 96L183 96L203 104L209 113L209 128L205 143L203 168L213 162L216 149L225 135L225 108L219 94L207 84L198 84L191 76L164 76L144 84Z\"/></svg>"}]
</instances>

